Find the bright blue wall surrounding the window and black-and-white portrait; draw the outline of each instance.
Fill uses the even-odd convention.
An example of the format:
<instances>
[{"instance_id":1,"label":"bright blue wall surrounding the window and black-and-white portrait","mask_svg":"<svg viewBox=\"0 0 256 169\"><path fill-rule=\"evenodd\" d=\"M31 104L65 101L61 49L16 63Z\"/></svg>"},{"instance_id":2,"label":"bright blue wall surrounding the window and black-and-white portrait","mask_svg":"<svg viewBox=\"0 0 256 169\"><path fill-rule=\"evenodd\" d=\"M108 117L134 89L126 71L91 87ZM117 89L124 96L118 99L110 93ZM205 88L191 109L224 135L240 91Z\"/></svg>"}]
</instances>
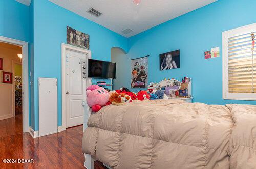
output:
<instances>
[{"instance_id":1,"label":"bright blue wall surrounding the window and black-and-white portrait","mask_svg":"<svg viewBox=\"0 0 256 169\"><path fill-rule=\"evenodd\" d=\"M222 99L222 32L256 22L251 6L254 3L254 0L219 0L135 35L129 38L127 58L119 64L150 55L150 82L188 76L193 78L194 102L255 104L255 101ZM204 51L217 46L221 57L205 60ZM159 54L177 49L181 67L160 71ZM130 86L130 76L128 70L123 74L126 87Z\"/></svg>"}]
</instances>

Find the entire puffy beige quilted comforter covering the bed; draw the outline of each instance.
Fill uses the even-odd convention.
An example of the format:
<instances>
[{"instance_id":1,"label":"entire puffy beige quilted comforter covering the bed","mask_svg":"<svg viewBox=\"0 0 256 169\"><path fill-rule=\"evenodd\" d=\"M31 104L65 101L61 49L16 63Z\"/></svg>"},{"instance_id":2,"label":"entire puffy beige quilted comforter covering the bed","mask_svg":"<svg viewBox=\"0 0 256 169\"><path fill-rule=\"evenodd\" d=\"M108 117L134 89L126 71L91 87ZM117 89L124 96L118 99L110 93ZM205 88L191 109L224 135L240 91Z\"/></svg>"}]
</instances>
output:
<instances>
[{"instance_id":1,"label":"entire puffy beige quilted comforter covering the bed","mask_svg":"<svg viewBox=\"0 0 256 169\"><path fill-rule=\"evenodd\" d=\"M255 114L182 100L109 105L90 116L82 152L113 168L253 168Z\"/></svg>"}]
</instances>

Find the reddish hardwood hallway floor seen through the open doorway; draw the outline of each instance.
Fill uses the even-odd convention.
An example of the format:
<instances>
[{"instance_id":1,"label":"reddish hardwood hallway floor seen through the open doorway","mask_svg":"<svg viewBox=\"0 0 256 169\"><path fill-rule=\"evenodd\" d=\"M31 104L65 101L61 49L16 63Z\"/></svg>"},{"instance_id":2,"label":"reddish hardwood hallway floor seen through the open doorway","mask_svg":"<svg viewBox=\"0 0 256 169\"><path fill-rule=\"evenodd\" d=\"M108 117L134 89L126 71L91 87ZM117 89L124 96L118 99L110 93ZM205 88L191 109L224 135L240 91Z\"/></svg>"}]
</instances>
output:
<instances>
[{"instance_id":1,"label":"reddish hardwood hallway floor seen through the open doorway","mask_svg":"<svg viewBox=\"0 0 256 169\"><path fill-rule=\"evenodd\" d=\"M22 133L22 115L0 120L0 137L21 134Z\"/></svg>"}]
</instances>

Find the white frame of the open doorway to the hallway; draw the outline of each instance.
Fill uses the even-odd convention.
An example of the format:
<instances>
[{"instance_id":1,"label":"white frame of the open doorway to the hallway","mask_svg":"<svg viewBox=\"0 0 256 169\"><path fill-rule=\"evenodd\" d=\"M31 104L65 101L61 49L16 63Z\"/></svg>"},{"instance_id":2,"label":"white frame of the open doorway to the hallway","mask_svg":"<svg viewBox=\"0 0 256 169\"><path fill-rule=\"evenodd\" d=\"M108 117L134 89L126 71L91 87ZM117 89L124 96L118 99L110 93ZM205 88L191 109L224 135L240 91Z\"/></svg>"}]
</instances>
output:
<instances>
[{"instance_id":1,"label":"white frame of the open doorway to the hallway","mask_svg":"<svg viewBox=\"0 0 256 169\"><path fill-rule=\"evenodd\" d=\"M25 41L20 41L16 39L11 39L7 37L0 36L0 41L5 43L11 43L14 45L22 46L22 119L23 119L23 132L29 131L29 43ZM14 81L13 81L14 82Z\"/></svg>"}]
</instances>

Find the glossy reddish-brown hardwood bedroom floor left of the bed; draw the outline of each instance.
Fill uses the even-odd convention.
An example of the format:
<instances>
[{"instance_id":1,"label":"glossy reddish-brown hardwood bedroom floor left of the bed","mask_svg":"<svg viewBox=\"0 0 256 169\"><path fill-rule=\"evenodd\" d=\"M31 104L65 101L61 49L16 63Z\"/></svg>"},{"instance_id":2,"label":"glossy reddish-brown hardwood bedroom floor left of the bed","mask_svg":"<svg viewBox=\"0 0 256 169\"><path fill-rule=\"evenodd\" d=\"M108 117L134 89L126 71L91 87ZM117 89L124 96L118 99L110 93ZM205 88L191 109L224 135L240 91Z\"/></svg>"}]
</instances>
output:
<instances>
[{"instance_id":1,"label":"glossy reddish-brown hardwood bedroom floor left of the bed","mask_svg":"<svg viewBox=\"0 0 256 169\"><path fill-rule=\"evenodd\" d=\"M29 133L0 137L0 168L84 168L83 126L33 139ZM3 163L34 159L34 163Z\"/></svg>"}]
</instances>

